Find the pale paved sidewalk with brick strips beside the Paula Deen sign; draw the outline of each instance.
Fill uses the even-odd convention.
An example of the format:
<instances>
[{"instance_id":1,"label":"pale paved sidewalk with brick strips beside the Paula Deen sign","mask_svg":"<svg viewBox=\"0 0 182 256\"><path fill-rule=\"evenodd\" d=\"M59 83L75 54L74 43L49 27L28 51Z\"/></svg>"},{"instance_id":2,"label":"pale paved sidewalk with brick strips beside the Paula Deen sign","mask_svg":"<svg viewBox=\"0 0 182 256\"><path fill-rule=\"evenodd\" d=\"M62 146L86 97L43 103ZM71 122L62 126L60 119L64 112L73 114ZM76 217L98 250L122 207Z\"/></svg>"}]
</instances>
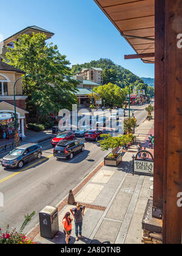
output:
<instances>
[{"instance_id":1,"label":"pale paved sidewalk with brick strips beside the Paula Deen sign","mask_svg":"<svg viewBox=\"0 0 182 256\"><path fill-rule=\"evenodd\" d=\"M145 143L152 133L153 121L145 121L136 129L136 141ZM78 187L73 189L76 202L86 205L83 221L84 240L75 240L72 224L70 244L141 244L141 222L148 199L152 199L152 180L148 176L132 175L132 156L136 144L124 153L118 168L101 163ZM61 200L61 198L60 198ZM30 230L29 237L42 244L65 244L62 218L75 206L64 198L58 207L59 233L48 240L39 233L39 224Z\"/></svg>"}]
</instances>

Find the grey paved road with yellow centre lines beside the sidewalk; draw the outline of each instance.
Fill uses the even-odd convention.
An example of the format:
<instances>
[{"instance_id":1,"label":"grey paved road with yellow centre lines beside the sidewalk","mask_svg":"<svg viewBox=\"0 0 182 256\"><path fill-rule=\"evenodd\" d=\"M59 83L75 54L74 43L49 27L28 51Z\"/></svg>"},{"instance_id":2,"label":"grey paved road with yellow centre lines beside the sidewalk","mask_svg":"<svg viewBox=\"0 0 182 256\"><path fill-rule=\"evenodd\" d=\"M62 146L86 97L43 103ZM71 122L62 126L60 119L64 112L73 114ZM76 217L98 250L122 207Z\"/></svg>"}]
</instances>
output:
<instances>
[{"instance_id":1,"label":"grey paved road with yellow centre lines beside the sidewalk","mask_svg":"<svg viewBox=\"0 0 182 256\"><path fill-rule=\"evenodd\" d=\"M138 124L146 117L144 107L136 107ZM72 160L56 160L50 140L39 144L43 148L39 162L30 162L21 172L0 167L0 192L4 194L4 207L0 207L1 228L9 224L10 228L19 229L24 215L35 210L36 215L25 229L28 232L38 223L38 213L45 205L57 205L107 155L98 143L87 142L85 151Z\"/></svg>"}]
</instances>

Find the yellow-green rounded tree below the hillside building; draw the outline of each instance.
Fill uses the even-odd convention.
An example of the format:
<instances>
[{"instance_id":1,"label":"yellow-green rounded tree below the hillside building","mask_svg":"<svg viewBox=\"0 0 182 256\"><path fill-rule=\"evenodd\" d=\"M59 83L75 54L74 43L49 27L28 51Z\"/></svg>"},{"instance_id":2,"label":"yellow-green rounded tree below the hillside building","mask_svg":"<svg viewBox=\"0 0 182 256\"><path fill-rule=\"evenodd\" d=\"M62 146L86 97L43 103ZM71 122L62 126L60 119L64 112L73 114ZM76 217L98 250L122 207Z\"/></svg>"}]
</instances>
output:
<instances>
[{"instance_id":1,"label":"yellow-green rounded tree below the hillside building","mask_svg":"<svg viewBox=\"0 0 182 256\"><path fill-rule=\"evenodd\" d=\"M123 90L118 87L118 85L112 83L95 87L93 88L93 91L98 93L102 101L105 101L105 104L110 107L123 105L126 98L126 94L124 94Z\"/></svg>"}]
</instances>

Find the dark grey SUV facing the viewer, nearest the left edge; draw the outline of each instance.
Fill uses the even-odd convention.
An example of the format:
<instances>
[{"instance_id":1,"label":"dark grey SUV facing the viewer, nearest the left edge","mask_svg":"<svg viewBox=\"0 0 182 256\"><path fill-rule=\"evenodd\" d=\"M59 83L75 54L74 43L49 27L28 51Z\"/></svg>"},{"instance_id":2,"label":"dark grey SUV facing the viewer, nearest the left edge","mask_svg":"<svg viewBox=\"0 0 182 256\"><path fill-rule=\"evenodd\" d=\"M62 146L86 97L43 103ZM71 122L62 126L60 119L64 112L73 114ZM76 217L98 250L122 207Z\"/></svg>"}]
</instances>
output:
<instances>
[{"instance_id":1,"label":"dark grey SUV facing the viewer, nearest the left edge","mask_svg":"<svg viewBox=\"0 0 182 256\"><path fill-rule=\"evenodd\" d=\"M13 149L9 154L2 158L2 166L5 168L22 168L25 163L38 158L42 155L42 147L38 144L30 143Z\"/></svg>"}]
</instances>

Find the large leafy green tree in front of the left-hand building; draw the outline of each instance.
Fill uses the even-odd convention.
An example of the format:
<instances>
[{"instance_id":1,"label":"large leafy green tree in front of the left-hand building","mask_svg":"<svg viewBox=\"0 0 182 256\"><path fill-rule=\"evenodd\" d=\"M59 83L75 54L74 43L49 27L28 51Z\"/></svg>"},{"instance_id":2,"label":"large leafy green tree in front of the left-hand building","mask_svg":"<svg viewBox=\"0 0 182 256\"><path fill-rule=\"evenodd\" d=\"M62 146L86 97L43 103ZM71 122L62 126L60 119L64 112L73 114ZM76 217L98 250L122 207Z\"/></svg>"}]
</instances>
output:
<instances>
[{"instance_id":1,"label":"large leafy green tree in front of the left-hand building","mask_svg":"<svg viewBox=\"0 0 182 256\"><path fill-rule=\"evenodd\" d=\"M70 64L66 55L61 55L58 47L45 43L46 35L20 35L15 48L6 54L10 65L30 74L29 81L22 80L23 93L30 116L40 116L59 112L61 108L71 108L76 103L77 82L70 79ZM67 78L65 79L65 76Z\"/></svg>"}]
</instances>

